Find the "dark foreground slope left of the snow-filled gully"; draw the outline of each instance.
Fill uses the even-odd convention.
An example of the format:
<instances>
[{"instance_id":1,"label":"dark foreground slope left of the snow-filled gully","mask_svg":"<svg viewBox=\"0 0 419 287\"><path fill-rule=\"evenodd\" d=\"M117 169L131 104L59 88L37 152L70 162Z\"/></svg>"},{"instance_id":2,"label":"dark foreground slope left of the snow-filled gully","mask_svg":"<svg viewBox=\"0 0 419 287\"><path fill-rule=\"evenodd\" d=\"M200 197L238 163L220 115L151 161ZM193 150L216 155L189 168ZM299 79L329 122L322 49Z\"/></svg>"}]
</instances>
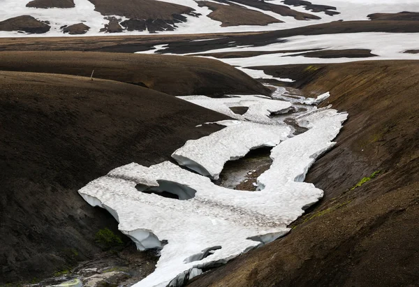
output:
<instances>
[{"instance_id":1,"label":"dark foreground slope left of the snow-filled gully","mask_svg":"<svg viewBox=\"0 0 419 287\"><path fill-rule=\"evenodd\" d=\"M77 191L112 168L170 159L226 116L121 82L0 71L0 285L92 258L117 228ZM77 255L75 255L77 254ZM11 285L16 286L16 285Z\"/></svg>"}]
</instances>

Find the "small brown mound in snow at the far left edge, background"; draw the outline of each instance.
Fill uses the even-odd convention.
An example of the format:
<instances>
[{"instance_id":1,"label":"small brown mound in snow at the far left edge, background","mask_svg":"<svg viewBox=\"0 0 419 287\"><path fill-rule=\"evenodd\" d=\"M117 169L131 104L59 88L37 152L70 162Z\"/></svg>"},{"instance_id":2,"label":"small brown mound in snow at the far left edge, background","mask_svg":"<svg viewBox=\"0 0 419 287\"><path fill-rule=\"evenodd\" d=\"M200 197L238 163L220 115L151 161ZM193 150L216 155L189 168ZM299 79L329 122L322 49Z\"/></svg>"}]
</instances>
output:
<instances>
[{"instance_id":1,"label":"small brown mound in snow at the far left edge, background","mask_svg":"<svg viewBox=\"0 0 419 287\"><path fill-rule=\"evenodd\" d=\"M43 34L51 27L29 15L22 15L0 22L0 31L24 31L30 34Z\"/></svg>"}]
</instances>

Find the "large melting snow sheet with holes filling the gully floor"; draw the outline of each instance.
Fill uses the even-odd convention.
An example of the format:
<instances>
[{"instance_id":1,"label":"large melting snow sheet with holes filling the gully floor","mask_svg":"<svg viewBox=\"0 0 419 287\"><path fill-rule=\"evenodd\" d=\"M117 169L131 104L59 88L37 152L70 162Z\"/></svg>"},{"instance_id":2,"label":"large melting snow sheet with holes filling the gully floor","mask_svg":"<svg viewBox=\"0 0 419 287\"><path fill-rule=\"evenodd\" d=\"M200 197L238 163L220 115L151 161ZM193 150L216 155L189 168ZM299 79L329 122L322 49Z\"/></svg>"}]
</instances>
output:
<instances>
[{"instance_id":1,"label":"large melting snow sheet with holes filling the gully floor","mask_svg":"<svg viewBox=\"0 0 419 287\"><path fill-rule=\"evenodd\" d=\"M283 92L280 88L277 96ZM161 249L156 270L137 287L180 286L205 268L286 235L288 224L323 196L304 177L315 159L335 144L332 140L347 117L330 107L306 104L309 111L294 118L308 130L292 135L284 122L264 121L267 112L287 112L293 103L263 96L249 96L248 101L244 96L183 98L227 115L225 107L231 105L253 109L220 122L225 126L221 131L189 140L172 155L195 172L169 161L149 168L130 163L79 191L90 205L107 209L138 249ZM273 147L273 163L258 177L258 191L226 189L209 178L216 178L226 161L262 146Z\"/></svg>"}]
</instances>

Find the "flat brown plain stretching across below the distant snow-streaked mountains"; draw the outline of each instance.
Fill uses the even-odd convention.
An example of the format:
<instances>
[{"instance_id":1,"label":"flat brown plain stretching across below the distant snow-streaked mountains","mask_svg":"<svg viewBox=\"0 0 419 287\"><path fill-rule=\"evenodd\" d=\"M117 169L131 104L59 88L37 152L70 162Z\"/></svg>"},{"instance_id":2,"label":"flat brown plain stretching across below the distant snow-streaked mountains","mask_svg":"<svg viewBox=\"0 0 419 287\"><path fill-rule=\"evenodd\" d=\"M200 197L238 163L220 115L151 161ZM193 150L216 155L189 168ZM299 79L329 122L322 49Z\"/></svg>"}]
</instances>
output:
<instances>
[{"instance_id":1,"label":"flat brown plain stretching across below the distant snow-streaked mountains","mask_svg":"<svg viewBox=\"0 0 419 287\"><path fill-rule=\"evenodd\" d=\"M1 38L0 50L82 50L133 53L150 50L154 45L168 44L161 53L184 54L207 52L237 45L264 46L286 41L297 35L321 35L360 32L417 33L419 25L411 21L349 21L316 24L295 29L268 32L154 36L108 37L50 37L50 38ZM204 40L191 42L193 40ZM214 38L216 38L214 40ZM231 43L234 42L234 43Z\"/></svg>"}]
</instances>

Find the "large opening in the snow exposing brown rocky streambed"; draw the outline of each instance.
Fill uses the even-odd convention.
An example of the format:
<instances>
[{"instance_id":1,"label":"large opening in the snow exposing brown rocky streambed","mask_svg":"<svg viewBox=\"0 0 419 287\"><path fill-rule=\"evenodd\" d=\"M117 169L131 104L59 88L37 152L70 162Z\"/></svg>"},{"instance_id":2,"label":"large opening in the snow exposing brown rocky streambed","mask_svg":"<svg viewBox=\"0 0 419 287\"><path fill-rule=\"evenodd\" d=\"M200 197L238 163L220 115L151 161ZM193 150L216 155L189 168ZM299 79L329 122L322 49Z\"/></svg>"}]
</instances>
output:
<instances>
[{"instance_id":1,"label":"large opening in the snow exposing brown rocky streambed","mask_svg":"<svg viewBox=\"0 0 419 287\"><path fill-rule=\"evenodd\" d=\"M228 189L256 191L256 179L270 168L272 147L252 149L246 156L224 165L216 184Z\"/></svg>"}]
</instances>

